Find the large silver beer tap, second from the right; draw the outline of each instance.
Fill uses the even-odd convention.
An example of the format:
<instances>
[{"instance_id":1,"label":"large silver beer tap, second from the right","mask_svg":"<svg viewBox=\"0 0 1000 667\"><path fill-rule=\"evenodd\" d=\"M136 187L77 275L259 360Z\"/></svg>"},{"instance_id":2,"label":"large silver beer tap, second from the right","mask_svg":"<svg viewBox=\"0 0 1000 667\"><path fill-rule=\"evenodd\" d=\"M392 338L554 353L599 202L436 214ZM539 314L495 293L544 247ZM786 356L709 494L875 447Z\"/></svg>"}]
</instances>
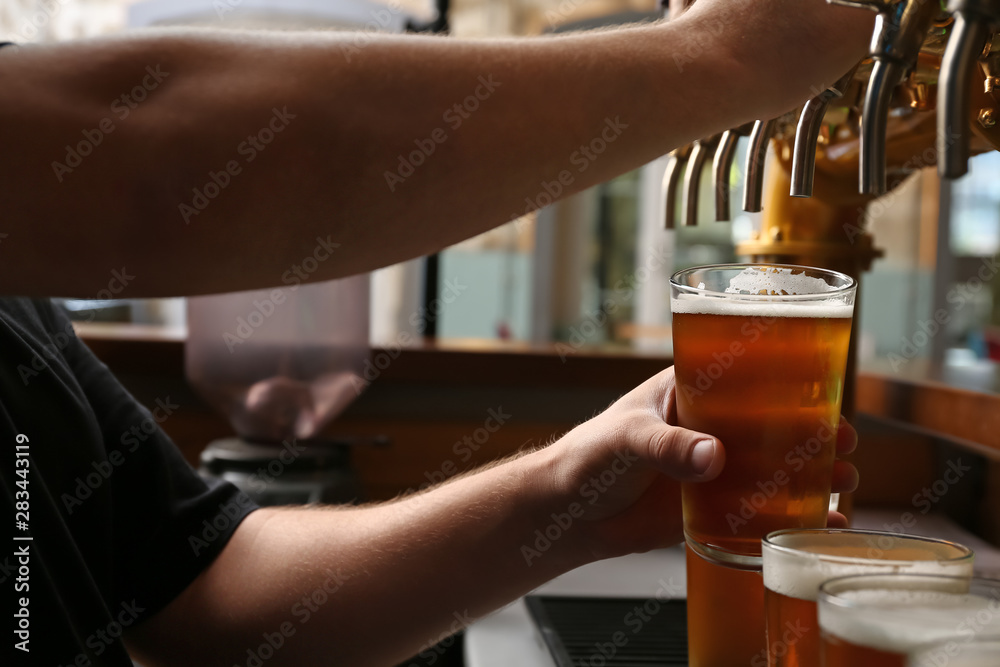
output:
<instances>
[{"instance_id":1,"label":"large silver beer tap, second from the right","mask_svg":"<svg viewBox=\"0 0 1000 667\"><path fill-rule=\"evenodd\" d=\"M861 114L862 194L886 192L886 130L896 87L916 62L939 0L827 0L878 12L869 56L874 61Z\"/></svg>"}]
</instances>

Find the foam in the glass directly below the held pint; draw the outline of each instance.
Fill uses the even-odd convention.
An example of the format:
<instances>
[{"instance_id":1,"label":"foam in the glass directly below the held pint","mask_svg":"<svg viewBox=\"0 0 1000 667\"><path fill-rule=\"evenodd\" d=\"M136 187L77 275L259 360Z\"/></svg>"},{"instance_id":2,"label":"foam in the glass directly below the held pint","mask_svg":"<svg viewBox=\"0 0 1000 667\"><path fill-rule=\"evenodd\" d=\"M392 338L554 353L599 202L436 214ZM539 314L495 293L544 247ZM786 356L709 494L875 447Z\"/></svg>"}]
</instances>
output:
<instances>
[{"instance_id":1,"label":"foam in the glass directly below the held pint","mask_svg":"<svg viewBox=\"0 0 1000 667\"><path fill-rule=\"evenodd\" d=\"M885 539L891 542L880 542ZM964 552L948 544L858 533L792 533L774 540L794 551L764 545L764 586L799 600L815 602L823 582L854 574L972 576L972 559L957 562Z\"/></svg>"}]
</instances>

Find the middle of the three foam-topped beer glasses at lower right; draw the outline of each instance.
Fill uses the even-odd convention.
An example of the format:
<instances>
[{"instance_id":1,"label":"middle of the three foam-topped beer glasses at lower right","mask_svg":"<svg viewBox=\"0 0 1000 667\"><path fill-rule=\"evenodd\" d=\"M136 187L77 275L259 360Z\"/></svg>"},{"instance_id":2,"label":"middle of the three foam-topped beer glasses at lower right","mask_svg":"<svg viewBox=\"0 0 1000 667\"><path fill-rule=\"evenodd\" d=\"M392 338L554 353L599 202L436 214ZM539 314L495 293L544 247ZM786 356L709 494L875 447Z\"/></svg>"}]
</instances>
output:
<instances>
[{"instance_id":1,"label":"middle of the three foam-topped beer glasses at lower right","mask_svg":"<svg viewBox=\"0 0 1000 667\"><path fill-rule=\"evenodd\" d=\"M819 589L826 667L906 667L939 642L1000 633L1000 580L862 574Z\"/></svg>"}]
</instances>

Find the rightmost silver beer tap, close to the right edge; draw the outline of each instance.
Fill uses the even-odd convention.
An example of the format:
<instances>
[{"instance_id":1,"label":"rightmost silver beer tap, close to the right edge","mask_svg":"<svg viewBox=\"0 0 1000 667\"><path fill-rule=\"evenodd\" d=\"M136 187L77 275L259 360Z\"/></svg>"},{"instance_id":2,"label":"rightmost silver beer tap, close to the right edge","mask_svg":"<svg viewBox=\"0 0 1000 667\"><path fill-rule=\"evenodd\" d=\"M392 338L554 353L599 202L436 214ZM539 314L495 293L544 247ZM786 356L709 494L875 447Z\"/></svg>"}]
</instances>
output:
<instances>
[{"instance_id":1,"label":"rightmost silver beer tap, close to the right edge","mask_svg":"<svg viewBox=\"0 0 1000 667\"><path fill-rule=\"evenodd\" d=\"M952 0L948 9L954 13L955 24L938 84L938 173L943 178L958 178L969 170L969 95L974 67L987 45L991 24L1000 24L1000 1ZM986 86L990 93L991 88L1000 87L996 71L987 72Z\"/></svg>"}]
</instances>

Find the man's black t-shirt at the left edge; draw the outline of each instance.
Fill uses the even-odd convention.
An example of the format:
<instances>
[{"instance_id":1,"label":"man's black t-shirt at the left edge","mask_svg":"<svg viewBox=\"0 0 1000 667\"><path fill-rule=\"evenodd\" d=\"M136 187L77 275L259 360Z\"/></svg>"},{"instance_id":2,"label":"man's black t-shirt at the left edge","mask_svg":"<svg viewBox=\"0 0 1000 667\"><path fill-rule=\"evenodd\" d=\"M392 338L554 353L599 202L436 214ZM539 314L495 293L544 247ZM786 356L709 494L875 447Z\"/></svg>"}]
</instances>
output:
<instances>
[{"instance_id":1,"label":"man's black t-shirt at the left edge","mask_svg":"<svg viewBox=\"0 0 1000 667\"><path fill-rule=\"evenodd\" d=\"M130 665L123 630L255 509L191 469L157 423L177 406L158 403L139 405L49 302L0 299L0 586L16 664Z\"/></svg>"}]
</instances>

